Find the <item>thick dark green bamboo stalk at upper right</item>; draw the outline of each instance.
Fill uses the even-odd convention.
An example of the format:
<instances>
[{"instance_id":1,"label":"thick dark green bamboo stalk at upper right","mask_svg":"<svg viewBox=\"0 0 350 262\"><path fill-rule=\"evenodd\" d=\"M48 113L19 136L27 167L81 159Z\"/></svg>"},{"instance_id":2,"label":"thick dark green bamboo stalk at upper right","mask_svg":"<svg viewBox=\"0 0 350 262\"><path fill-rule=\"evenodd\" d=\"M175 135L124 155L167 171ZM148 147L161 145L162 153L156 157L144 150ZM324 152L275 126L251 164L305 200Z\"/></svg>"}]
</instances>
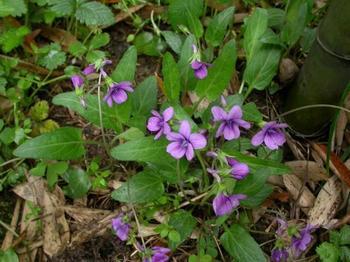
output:
<instances>
[{"instance_id":1,"label":"thick dark green bamboo stalk at upper right","mask_svg":"<svg viewBox=\"0 0 350 262\"><path fill-rule=\"evenodd\" d=\"M332 0L297 81L287 92L284 111L337 105L349 81L350 0ZM285 116L285 121L297 133L312 136L322 132L334 113L331 108L310 108Z\"/></svg>"}]
</instances>

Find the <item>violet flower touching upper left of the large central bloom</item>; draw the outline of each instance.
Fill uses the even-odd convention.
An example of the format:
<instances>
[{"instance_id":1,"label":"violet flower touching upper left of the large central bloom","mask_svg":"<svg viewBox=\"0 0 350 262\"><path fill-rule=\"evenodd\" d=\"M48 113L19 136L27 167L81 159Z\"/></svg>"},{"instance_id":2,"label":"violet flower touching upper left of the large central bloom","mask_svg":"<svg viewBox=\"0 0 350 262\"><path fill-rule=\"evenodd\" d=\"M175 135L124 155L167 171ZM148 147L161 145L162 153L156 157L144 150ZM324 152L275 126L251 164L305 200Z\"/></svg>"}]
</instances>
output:
<instances>
[{"instance_id":1,"label":"violet flower touching upper left of the large central bloom","mask_svg":"<svg viewBox=\"0 0 350 262\"><path fill-rule=\"evenodd\" d=\"M174 108L168 107L162 114L152 110L152 117L148 119L147 129L151 132L157 132L154 139L159 139L161 135L168 134L171 132L168 121L174 115Z\"/></svg>"}]
</instances>

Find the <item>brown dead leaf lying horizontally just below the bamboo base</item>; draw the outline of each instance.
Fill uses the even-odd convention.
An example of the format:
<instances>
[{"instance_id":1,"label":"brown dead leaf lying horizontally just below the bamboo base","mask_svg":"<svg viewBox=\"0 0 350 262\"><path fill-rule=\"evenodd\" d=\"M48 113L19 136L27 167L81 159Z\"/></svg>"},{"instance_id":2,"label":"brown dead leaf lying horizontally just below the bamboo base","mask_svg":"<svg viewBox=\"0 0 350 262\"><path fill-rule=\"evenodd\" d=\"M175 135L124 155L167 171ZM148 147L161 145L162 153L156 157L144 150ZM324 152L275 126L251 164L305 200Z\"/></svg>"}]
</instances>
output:
<instances>
[{"instance_id":1,"label":"brown dead leaf lying horizontally just below the bamboo base","mask_svg":"<svg viewBox=\"0 0 350 262\"><path fill-rule=\"evenodd\" d=\"M292 174L299 178L308 178L312 181L326 181L328 179L327 172L323 166L314 161L296 160L284 163L292 169Z\"/></svg>"}]
</instances>

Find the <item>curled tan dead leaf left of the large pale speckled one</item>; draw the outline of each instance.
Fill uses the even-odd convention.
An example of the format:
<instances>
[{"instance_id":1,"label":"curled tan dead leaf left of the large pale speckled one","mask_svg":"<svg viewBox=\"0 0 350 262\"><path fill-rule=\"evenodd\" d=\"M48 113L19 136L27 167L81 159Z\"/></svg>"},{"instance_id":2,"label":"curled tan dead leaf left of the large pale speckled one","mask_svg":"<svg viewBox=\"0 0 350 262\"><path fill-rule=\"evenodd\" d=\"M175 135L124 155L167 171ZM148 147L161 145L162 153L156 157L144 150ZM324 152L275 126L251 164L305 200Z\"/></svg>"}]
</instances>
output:
<instances>
[{"instance_id":1,"label":"curled tan dead leaf left of the large pale speckled one","mask_svg":"<svg viewBox=\"0 0 350 262\"><path fill-rule=\"evenodd\" d=\"M292 198L295 201L298 200L298 206L307 214L309 209L314 205L314 195L306 186L303 187L302 181L295 175L284 175L283 182Z\"/></svg>"}]
</instances>

